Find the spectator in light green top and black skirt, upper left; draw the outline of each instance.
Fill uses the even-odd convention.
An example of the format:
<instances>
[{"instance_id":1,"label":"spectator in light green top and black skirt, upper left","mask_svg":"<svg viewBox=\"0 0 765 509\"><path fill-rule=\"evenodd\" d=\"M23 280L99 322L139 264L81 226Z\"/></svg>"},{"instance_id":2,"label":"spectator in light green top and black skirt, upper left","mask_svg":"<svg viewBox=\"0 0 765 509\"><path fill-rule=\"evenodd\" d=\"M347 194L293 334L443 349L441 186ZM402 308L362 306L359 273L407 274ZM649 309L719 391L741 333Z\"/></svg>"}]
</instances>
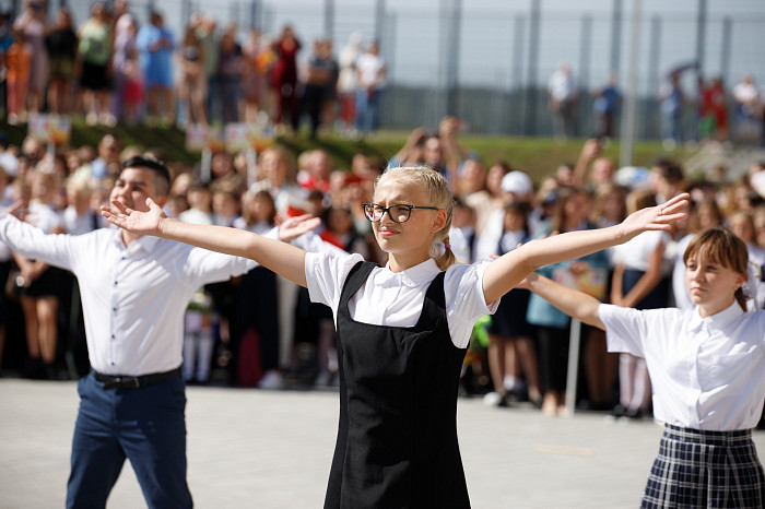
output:
<instances>
[{"instance_id":1,"label":"spectator in light green top and black skirt, upper left","mask_svg":"<svg viewBox=\"0 0 765 509\"><path fill-rule=\"evenodd\" d=\"M103 2L93 4L91 17L78 29L78 74L85 119L90 126L95 126L98 121L113 126L115 119L108 109L111 87L111 22Z\"/></svg>"}]
</instances>

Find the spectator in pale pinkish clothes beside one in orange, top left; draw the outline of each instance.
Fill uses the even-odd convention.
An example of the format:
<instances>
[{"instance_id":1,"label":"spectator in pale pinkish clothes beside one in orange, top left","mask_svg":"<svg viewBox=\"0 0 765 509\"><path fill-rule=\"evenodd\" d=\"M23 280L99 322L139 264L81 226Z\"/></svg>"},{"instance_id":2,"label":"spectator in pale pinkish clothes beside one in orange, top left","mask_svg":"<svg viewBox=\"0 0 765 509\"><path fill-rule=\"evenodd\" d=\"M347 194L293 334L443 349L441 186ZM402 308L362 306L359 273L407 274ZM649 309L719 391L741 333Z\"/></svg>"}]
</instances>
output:
<instances>
[{"instance_id":1,"label":"spectator in pale pinkish clothes beside one in orange, top left","mask_svg":"<svg viewBox=\"0 0 765 509\"><path fill-rule=\"evenodd\" d=\"M44 0L27 0L24 12L13 23L13 29L24 34L24 44L30 48L30 81L24 110L35 114L40 110L48 84L48 51L45 36L48 32L47 4Z\"/></svg>"}]
</instances>

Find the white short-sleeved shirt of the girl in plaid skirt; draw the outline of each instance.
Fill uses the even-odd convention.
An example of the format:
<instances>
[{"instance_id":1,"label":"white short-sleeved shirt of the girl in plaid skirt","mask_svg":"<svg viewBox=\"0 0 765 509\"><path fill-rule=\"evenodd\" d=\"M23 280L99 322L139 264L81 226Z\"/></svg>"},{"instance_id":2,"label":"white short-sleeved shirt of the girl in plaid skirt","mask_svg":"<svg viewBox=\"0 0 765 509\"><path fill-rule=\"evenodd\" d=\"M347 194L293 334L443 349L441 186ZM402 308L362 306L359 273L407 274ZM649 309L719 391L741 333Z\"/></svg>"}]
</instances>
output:
<instances>
[{"instance_id":1,"label":"white short-sleeved shirt of the girl in plaid skirt","mask_svg":"<svg viewBox=\"0 0 765 509\"><path fill-rule=\"evenodd\" d=\"M644 357L654 415L713 431L754 428L765 400L765 311L738 303L707 318L698 309L638 311L601 304L609 352Z\"/></svg>"}]
</instances>

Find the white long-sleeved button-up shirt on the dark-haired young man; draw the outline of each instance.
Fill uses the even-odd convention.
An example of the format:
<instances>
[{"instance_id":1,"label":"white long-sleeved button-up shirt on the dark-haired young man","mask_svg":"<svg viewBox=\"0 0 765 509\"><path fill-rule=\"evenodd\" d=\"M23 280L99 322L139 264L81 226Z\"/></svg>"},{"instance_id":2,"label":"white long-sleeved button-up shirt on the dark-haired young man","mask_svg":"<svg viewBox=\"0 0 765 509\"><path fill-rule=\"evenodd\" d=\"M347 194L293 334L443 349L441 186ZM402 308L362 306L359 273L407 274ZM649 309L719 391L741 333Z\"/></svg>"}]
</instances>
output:
<instances>
[{"instance_id":1,"label":"white long-sleeved button-up shirt on the dark-haired young man","mask_svg":"<svg viewBox=\"0 0 765 509\"><path fill-rule=\"evenodd\" d=\"M158 237L125 246L121 230L45 235L11 215L0 240L20 254L74 273L80 283L91 365L140 376L181 364L184 312L193 292L257 263Z\"/></svg>"}]
</instances>

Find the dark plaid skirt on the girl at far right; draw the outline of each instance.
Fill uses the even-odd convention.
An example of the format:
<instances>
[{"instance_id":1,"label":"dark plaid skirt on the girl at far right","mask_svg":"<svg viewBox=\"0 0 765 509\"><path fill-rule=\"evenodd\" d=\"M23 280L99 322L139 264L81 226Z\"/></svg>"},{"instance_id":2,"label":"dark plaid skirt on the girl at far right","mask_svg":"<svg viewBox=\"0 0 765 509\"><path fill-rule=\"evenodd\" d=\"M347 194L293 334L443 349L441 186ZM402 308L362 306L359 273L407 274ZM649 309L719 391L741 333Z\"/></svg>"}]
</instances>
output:
<instances>
[{"instance_id":1,"label":"dark plaid skirt on the girl at far right","mask_svg":"<svg viewBox=\"0 0 765 509\"><path fill-rule=\"evenodd\" d=\"M664 425L643 508L765 507L765 476L752 430Z\"/></svg>"}]
</instances>

